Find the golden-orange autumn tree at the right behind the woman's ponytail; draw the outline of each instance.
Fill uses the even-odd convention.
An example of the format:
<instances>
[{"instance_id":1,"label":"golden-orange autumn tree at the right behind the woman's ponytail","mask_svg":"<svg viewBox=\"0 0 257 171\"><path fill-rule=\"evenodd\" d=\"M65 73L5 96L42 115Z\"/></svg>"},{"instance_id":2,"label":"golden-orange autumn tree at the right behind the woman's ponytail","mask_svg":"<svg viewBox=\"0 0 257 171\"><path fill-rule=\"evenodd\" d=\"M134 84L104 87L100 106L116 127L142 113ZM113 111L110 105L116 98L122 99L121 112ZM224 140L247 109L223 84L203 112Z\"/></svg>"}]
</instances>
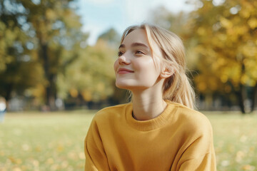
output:
<instances>
[{"instance_id":1,"label":"golden-orange autumn tree at the right behind the woman's ponytail","mask_svg":"<svg viewBox=\"0 0 257 171\"><path fill-rule=\"evenodd\" d=\"M251 0L196 1L200 8L191 13L191 41L196 42L201 92L228 91L238 98L246 113L246 87L253 89L254 108L257 83L257 2ZM225 86L224 86L225 85Z\"/></svg>"}]
</instances>

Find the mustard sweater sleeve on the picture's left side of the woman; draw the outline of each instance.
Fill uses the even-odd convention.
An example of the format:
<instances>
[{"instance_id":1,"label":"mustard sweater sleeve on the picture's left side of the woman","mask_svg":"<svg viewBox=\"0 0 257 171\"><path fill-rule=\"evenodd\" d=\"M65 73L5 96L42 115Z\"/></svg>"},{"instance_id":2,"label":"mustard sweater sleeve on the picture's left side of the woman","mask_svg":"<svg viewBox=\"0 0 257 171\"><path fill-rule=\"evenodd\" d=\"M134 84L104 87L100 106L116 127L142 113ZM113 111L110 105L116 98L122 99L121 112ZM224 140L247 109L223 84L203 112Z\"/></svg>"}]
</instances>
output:
<instances>
[{"instance_id":1,"label":"mustard sweater sleeve on the picture's left side of the woman","mask_svg":"<svg viewBox=\"0 0 257 171\"><path fill-rule=\"evenodd\" d=\"M92 120L84 142L86 155L85 171L110 170L104 145L96 121Z\"/></svg>"}]
</instances>

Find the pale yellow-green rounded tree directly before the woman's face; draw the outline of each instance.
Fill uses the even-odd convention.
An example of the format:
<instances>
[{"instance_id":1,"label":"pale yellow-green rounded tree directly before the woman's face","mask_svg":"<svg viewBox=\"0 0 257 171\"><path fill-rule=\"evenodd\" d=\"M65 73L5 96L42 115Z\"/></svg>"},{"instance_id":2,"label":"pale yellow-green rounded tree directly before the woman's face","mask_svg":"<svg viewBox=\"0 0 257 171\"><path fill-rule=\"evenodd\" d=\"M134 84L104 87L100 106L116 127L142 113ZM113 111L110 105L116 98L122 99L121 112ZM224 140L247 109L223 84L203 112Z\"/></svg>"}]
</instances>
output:
<instances>
[{"instance_id":1,"label":"pale yellow-green rounded tree directly before the woman's face","mask_svg":"<svg viewBox=\"0 0 257 171\"><path fill-rule=\"evenodd\" d=\"M99 39L94 46L81 51L64 73L58 76L59 95L67 99L79 98L97 103L114 93L113 64L116 51L104 40Z\"/></svg>"}]
</instances>

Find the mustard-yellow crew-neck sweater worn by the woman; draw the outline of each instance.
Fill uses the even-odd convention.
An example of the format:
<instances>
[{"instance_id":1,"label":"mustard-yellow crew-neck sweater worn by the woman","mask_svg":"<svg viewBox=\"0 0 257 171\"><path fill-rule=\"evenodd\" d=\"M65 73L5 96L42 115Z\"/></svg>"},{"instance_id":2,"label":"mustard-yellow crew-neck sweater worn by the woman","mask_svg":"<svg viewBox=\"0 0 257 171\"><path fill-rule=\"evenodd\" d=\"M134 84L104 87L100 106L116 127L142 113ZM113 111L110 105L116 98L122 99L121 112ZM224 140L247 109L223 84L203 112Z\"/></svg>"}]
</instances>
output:
<instances>
[{"instance_id":1,"label":"mustard-yellow crew-neck sweater worn by the woman","mask_svg":"<svg viewBox=\"0 0 257 171\"><path fill-rule=\"evenodd\" d=\"M216 170L205 115L178 103L151 120L132 116L132 103L96 113L85 139L85 170Z\"/></svg>"}]
</instances>

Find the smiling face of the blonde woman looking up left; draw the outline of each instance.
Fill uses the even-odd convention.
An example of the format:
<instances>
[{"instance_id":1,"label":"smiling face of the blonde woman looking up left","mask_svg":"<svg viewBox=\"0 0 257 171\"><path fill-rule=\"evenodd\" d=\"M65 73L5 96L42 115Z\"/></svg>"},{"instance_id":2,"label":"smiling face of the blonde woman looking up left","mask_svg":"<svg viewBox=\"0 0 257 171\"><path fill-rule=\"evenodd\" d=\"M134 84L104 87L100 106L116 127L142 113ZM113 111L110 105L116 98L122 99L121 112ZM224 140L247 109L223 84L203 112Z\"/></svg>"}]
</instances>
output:
<instances>
[{"instance_id":1,"label":"smiling face of the blonde woman looking up left","mask_svg":"<svg viewBox=\"0 0 257 171\"><path fill-rule=\"evenodd\" d=\"M153 42L154 54L161 56L157 44ZM153 61L146 32L136 29L129 33L119 46L119 58L114 63L116 86L128 90L151 88L161 73L161 61Z\"/></svg>"}]
</instances>

